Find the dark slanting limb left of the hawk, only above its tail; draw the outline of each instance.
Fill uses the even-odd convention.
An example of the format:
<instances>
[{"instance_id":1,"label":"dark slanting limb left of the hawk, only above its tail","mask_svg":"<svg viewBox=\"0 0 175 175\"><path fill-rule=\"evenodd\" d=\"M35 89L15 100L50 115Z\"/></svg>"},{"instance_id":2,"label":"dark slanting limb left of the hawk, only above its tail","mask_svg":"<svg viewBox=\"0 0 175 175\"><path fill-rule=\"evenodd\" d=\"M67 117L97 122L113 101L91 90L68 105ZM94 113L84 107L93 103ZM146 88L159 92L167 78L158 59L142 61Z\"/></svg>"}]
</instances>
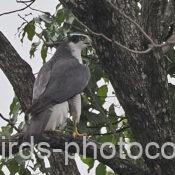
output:
<instances>
[{"instance_id":1,"label":"dark slanting limb left of the hawk, only above its tail","mask_svg":"<svg viewBox=\"0 0 175 175\"><path fill-rule=\"evenodd\" d=\"M20 57L1 32L0 68L12 84L22 110L25 112L31 105L35 77L30 65Z\"/></svg>"}]
</instances>

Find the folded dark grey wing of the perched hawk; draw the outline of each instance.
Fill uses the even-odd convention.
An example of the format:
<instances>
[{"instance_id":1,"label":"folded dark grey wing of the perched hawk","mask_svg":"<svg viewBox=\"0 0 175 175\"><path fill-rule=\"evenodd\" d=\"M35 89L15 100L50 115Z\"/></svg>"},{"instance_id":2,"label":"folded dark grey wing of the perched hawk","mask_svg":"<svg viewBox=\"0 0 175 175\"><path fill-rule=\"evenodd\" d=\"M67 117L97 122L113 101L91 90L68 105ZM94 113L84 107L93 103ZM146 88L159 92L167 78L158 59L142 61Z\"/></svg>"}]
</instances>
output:
<instances>
[{"instance_id":1,"label":"folded dark grey wing of the perched hawk","mask_svg":"<svg viewBox=\"0 0 175 175\"><path fill-rule=\"evenodd\" d=\"M48 70L50 71L50 69ZM42 74L44 75L45 71L41 73L40 77L43 76ZM44 81L45 87L37 86L44 91L29 110L33 115L42 112L50 105L62 103L81 93L90 78L89 68L80 64L77 59L58 60L52 65L51 72L48 74L49 79L47 77L47 80ZM46 75L48 74L46 73Z\"/></svg>"}]
</instances>

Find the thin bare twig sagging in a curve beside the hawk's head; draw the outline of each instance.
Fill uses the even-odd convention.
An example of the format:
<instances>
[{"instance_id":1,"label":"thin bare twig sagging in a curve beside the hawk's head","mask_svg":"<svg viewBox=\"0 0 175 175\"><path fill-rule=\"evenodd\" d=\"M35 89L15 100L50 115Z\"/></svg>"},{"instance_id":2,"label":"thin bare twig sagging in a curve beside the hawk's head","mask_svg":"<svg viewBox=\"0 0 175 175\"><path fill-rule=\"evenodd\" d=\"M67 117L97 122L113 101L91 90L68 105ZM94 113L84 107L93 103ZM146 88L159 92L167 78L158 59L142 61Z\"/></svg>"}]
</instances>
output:
<instances>
[{"instance_id":1,"label":"thin bare twig sagging in a curve beside the hawk's head","mask_svg":"<svg viewBox=\"0 0 175 175\"><path fill-rule=\"evenodd\" d=\"M91 34L95 35L95 36L100 36L102 38L104 38L105 40L111 42L111 43L115 43L117 46L129 51L129 52L132 52L132 53L135 53L135 54L146 54L146 53L150 53L150 51L152 50L152 48L148 48L147 50L144 50L144 51L139 51L139 50L132 50L132 49L129 49L128 47L120 44L118 41L115 41L115 40L112 40L110 38L108 38L106 35L104 35L103 33L96 33L94 32L92 29L90 29L89 27L87 27L85 24L83 24L79 19L76 18L76 20L83 26L85 27Z\"/></svg>"}]
</instances>

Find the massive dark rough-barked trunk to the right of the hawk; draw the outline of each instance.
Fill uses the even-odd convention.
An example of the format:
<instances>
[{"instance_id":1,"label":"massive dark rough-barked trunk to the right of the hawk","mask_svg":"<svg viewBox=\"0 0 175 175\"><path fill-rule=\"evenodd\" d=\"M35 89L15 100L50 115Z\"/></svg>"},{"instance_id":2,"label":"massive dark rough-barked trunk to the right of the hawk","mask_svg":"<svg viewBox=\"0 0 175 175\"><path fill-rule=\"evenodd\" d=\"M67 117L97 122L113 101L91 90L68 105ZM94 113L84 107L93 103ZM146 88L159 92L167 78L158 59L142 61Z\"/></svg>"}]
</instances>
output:
<instances>
[{"instance_id":1,"label":"massive dark rough-barked trunk to the right of the hawk","mask_svg":"<svg viewBox=\"0 0 175 175\"><path fill-rule=\"evenodd\" d=\"M136 25L128 21L106 0L60 0L86 26L104 34L130 49L146 50L149 42ZM139 12L136 1L115 1L115 6L142 26L156 43L163 41L162 25L164 6L167 1L143 0ZM139 15L141 13L141 15ZM149 54L133 54L114 42L97 35L93 36L100 63L113 85L123 106L136 141L143 147L154 141L162 146L175 141L173 116L170 111L166 59L161 49ZM150 150L154 153L155 150ZM144 160L152 174L170 175L175 173L174 159Z\"/></svg>"}]
</instances>

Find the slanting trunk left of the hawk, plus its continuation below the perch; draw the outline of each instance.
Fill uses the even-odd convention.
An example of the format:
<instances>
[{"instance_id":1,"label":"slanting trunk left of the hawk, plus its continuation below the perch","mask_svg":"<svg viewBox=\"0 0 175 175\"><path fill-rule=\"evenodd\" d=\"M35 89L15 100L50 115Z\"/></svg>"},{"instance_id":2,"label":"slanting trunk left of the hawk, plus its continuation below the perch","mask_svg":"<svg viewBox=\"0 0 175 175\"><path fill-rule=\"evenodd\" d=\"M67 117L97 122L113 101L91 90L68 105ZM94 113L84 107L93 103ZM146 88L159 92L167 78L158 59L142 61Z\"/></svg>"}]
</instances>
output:
<instances>
[{"instance_id":1,"label":"slanting trunk left of the hawk, plus its continuation below the perch","mask_svg":"<svg viewBox=\"0 0 175 175\"><path fill-rule=\"evenodd\" d=\"M32 90L35 77L32 68L16 52L7 38L0 32L0 68L13 86L21 108L25 112L32 103ZM76 163L70 160L64 166L64 157L60 153L53 153L50 157L52 175L79 175Z\"/></svg>"}]
</instances>

